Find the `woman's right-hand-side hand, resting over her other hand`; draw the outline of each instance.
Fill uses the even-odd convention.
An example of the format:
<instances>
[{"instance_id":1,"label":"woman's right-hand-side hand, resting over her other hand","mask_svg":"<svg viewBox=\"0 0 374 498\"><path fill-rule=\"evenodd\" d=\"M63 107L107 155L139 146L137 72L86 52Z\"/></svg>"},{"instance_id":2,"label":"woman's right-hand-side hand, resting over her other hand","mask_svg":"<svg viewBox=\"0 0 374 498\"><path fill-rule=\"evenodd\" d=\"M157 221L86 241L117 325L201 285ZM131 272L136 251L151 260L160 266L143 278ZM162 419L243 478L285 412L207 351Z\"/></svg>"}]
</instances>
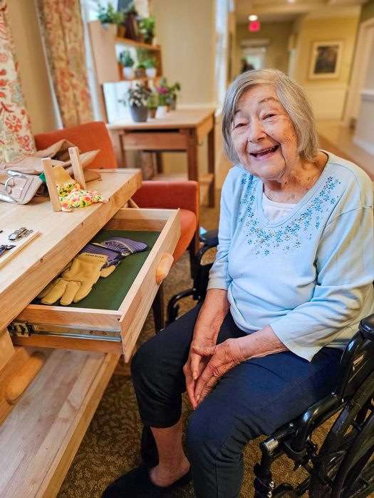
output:
<instances>
[{"instance_id":1,"label":"woman's right-hand-side hand, resting over her other hand","mask_svg":"<svg viewBox=\"0 0 374 498\"><path fill-rule=\"evenodd\" d=\"M205 368L194 386L194 401L197 406L207 397L229 369L245 361L240 348L240 339L227 339L216 346L192 346L194 353L204 359ZM202 360L203 361L203 360ZM191 396L189 396L191 399ZM194 408L196 408L194 406Z\"/></svg>"}]
</instances>

